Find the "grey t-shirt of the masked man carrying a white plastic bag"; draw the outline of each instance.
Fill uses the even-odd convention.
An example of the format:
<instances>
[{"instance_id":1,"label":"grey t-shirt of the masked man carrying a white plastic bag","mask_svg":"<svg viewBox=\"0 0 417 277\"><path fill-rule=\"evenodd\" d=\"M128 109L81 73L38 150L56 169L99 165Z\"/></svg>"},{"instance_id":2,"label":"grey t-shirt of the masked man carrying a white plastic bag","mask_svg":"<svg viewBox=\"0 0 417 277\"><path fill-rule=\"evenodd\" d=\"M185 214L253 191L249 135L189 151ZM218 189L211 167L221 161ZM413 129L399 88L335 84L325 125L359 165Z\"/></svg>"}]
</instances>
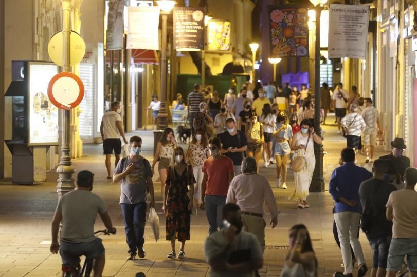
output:
<instances>
[{"instance_id":1,"label":"grey t-shirt of the masked man carrying a white plastic bag","mask_svg":"<svg viewBox=\"0 0 417 277\"><path fill-rule=\"evenodd\" d=\"M141 157L138 161L133 162L129 156L126 156L117 164L114 173L122 173L131 163L135 164L135 169L120 182L120 204L136 204L146 201L148 192L146 179L147 177L152 178L151 165L148 160Z\"/></svg>"}]
</instances>

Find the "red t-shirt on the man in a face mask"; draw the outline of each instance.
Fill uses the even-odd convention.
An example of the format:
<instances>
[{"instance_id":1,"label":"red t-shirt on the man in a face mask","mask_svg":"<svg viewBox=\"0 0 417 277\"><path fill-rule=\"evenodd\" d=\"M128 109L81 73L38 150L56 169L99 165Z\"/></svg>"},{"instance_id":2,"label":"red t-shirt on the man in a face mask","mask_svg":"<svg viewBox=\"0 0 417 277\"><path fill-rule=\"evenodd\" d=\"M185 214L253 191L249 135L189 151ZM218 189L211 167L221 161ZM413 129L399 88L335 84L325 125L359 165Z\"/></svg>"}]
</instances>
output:
<instances>
[{"instance_id":1,"label":"red t-shirt on the man in a face mask","mask_svg":"<svg viewBox=\"0 0 417 277\"><path fill-rule=\"evenodd\" d=\"M209 157L203 163L203 173L207 173L206 195L227 196L229 173L234 172L232 160L223 156L219 160Z\"/></svg>"}]
</instances>

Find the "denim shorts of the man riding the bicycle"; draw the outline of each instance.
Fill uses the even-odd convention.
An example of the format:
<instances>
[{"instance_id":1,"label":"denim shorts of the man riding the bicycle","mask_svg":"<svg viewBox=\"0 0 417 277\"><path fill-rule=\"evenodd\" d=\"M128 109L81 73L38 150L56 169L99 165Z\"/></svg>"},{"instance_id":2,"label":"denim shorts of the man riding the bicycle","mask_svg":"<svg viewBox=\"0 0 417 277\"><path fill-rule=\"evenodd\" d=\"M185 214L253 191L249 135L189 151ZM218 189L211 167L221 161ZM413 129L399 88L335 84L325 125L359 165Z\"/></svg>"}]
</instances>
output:
<instances>
[{"instance_id":1,"label":"denim shorts of the man riding the bicycle","mask_svg":"<svg viewBox=\"0 0 417 277\"><path fill-rule=\"evenodd\" d=\"M104 255L105 250L100 238L84 243L69 243L61 241L59 253L63 265L77 265L80 256L84 255L88 259L97 259Z\"/></svg>"}]
</instances>

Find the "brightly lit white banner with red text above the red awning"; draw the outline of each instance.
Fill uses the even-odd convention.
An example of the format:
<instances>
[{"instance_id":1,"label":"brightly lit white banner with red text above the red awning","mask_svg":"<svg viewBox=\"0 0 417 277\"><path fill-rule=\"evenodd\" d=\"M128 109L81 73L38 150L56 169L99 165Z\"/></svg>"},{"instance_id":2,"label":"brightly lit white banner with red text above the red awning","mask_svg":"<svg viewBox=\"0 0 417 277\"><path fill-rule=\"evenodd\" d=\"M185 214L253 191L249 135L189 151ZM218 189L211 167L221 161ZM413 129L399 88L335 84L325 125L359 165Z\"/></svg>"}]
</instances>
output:
<instances>
[{"instance_id":1,"label":"brightly lit white banner with red text above the red awning","mask_svg":"<svg viewBox=\"0 0 417 277\"><path fill-rule=\"evenodd\" d=\"M159 8L128 7L127 49L159 50Z\"/></svg>"}]
</instances>

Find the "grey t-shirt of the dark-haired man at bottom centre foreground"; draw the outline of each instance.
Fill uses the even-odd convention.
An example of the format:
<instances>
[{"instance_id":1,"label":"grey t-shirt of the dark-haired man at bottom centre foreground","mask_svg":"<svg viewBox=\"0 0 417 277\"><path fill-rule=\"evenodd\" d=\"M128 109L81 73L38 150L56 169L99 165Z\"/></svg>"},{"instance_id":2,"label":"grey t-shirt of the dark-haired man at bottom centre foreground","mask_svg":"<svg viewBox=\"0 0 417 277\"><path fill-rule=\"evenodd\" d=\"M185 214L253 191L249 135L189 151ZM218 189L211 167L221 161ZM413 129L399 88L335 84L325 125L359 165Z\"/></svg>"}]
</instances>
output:
<instances>
[{"instance_id":1,"label":"grey t-shirt of the dark-haired man at bottom centre foreground","mask_svg":"<svg viewBox=\"0 0 417 277\"><path fill-rule=\"evenodd\" d=\"M204 256L206 262L210 264L211 260L218 255L227 245L227 239L223 231L212 233L204 243ZM262 250L259 246L258 239L255 235L242 230L234 239L232 244L232 251L229 255L229 263L252 262L262 259ZM222 271L216 272L211 269L211 277L252 277L253 271L238 272L238 271Z\"/></svg>"}]
</instances>

